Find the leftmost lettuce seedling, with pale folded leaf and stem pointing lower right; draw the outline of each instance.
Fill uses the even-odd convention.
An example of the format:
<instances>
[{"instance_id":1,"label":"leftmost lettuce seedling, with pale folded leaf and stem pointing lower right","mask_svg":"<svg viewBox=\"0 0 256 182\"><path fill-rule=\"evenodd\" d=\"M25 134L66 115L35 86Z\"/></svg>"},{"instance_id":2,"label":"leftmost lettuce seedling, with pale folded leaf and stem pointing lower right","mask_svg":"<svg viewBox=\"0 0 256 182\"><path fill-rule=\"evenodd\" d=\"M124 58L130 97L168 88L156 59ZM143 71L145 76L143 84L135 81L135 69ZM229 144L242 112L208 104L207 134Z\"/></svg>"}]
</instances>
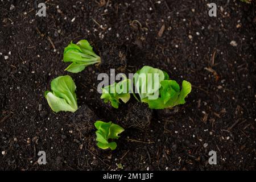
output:
<instances>
[{"instance_id":1,"label":"leftmost lettuce seedling, with pale folded leaf and stem pointing lower right","mask_svg":"<svg viewBox=\"0 0 256 182\"><path fill-rule=\"evenodd\" d=\"M44 92L44 97L53 111L77 110L76 85L71 76L59 76L51 81L51 90Z\"/></svg>"}]
</instances>

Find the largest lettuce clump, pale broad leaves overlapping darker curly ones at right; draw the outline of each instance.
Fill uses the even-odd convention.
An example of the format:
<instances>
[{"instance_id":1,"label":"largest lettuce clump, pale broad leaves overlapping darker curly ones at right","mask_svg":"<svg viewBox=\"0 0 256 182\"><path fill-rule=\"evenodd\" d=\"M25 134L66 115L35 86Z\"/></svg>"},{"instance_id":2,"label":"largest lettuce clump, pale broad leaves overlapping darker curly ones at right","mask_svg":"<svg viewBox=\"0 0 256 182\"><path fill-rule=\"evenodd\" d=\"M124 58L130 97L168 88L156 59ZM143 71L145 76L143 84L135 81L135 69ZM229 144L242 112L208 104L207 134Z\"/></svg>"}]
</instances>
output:
<instances>
[{"instance_id":1,"label":"largest lettuce clump, pale broad leaves overlapping darker curly ones at right","mask_svg":"<svg viewBox=\"0 0 256 182\"><path fill-rule=\"evenodd\" d=\"M185 104L185 97L191 92L191 84L188 81L184 80L182 82L182 89L180 90L176 81L168 80L169 76L166 72L152 67L148 68L148 66L145 67L137 72L138 75L135 74L134 76L135 89L139 93L141 102L147 103L150 109L166 109ZM148 73L156 73L159 77L153 80L152 77L154 76L148 75ZM146 75L146 81L141 81L141 78L145 77L144 75ZM152 86L148 88L148 85Z\"/></svg>"}]
</instances>

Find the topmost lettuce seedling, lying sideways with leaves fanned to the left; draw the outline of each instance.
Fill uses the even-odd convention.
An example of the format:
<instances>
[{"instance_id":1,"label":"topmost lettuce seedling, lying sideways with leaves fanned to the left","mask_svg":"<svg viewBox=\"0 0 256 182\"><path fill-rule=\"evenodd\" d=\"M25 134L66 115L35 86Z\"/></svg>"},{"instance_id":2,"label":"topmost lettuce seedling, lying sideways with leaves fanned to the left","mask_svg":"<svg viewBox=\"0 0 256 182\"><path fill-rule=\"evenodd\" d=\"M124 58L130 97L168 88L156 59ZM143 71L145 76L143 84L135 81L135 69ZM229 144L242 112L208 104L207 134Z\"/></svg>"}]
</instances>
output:
<instances>
[{"instance_id":1,"label":"topmost lettuce seedling, lying sideways with leaves fanned to the left","mask_svg":"<svg viewBox=\"0 0 256 182\"><path fill-rule=\"evenodd\" d=\"M65 47L63 61L72 62L65 71L78 73L88 65L99 64L101 58L93 52L93 48L87 40L80 40L77 44L71 42Z\"/></svg>"}]
</instances>

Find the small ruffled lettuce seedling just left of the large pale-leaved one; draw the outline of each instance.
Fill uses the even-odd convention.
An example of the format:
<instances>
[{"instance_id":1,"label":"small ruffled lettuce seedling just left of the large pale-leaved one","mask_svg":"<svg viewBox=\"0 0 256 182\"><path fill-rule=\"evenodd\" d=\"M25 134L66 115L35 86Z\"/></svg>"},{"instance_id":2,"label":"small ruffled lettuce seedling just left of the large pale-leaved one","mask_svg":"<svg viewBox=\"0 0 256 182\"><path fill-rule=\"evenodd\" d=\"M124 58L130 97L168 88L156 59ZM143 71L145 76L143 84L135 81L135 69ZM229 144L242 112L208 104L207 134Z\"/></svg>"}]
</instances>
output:
<instances>
[{"instance_id":1,"label":"small ruffled lettuce seedling just left of the large pale-leaved one","mask_svg":"<svg viewBox=\"0 0 256 182\"><path fill-rule=\"evenodd\" d=\"M118 83L114 82L114 84L106 86L102 88L101 99L104 99L104 102L110 102L114 108L118 108L119 99L121 99L124 103L130 100L129 89L131 88L131 80L125 79Z\"/></svg>"}]
</instances>

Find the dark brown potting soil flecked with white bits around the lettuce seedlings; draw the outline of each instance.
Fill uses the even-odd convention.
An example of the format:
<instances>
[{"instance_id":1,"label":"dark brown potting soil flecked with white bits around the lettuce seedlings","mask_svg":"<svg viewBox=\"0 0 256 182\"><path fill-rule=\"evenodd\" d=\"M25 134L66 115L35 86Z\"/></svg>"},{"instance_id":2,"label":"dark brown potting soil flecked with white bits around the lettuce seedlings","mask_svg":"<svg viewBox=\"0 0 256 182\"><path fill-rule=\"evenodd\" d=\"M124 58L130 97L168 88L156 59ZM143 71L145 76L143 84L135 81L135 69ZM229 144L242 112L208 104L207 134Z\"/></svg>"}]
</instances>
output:
<instances>
[{"instance_id":1,"label":"dark brown potting soil flecked with white bits around the lettuce seedlings","mask_svg":"<svg viewBox=\"0 0 256 182\"><path fill-rule=\"evenodd\" d=\"M1 170L102 170L117 164L126 170L255 169L255 5L50 0L47 16L39 17L35 2L0 2ZM208 16L210 2L218 6L217 17ZM136 101L116 110L100 100L97 76L109 69L64 71L64 47L80 39L99 55L124 47L126 74L150 65L180 84L188 80L187 103L170 114L154 110L148 130L127 127L116 150L100 150L94 129L84 125L93 128L88 122L94 119L121 125ZM230 45L233 40L237 45ZM44 98L51 80L66 74L77 85L77 117L53 113ZM42 150L46 165L37 163ZM211 150L216 165L208 163Z\"/></svg>"}]
</instances>

